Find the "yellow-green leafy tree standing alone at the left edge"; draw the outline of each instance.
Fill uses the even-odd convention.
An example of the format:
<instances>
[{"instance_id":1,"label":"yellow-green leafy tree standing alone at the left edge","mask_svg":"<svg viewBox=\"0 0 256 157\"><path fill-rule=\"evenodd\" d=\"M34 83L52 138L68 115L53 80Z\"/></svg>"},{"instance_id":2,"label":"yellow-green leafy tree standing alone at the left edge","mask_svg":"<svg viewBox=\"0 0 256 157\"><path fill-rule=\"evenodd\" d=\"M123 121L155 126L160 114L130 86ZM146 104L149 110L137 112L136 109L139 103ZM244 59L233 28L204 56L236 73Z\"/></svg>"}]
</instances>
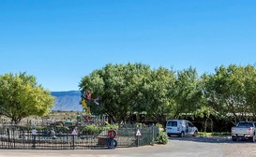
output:
<instances>
[{"instance_id":1,"label":"yellow-green leafy tree standing alone at the left edge","mask_svg":"<svg viewBox=\"0 0 256 157\"><path fill-rule=\"evenodd\" d=\"M38 85L34 76L26 73L0 76L0 114L10 118L12 123L48 113L53 102L51 93Z\"/></svg>"}]
</instances>

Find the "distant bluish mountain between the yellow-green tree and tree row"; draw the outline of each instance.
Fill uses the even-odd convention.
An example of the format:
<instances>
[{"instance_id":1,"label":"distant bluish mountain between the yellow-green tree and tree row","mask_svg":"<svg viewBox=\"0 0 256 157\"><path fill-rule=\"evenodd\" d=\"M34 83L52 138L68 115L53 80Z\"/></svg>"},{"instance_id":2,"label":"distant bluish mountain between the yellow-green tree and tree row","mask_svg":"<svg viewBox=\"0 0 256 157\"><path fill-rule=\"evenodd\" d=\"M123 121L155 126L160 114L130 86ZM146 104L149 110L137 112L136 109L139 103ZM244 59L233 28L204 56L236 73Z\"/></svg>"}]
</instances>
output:
<instances>
[{"instance_id":1,"label":"distant bluish mountain between the yellow-green tree and tree row","mask_svg":"<svg viewBox=\"0 0 256 157\"><path fill-rule=\"evenodd\" d=\"M80 105L81 93L80 91L68 92L52 92L55 97L55 106L52 110L61 111L82 111L83 107Z\"/></svg>"}]
</instances>

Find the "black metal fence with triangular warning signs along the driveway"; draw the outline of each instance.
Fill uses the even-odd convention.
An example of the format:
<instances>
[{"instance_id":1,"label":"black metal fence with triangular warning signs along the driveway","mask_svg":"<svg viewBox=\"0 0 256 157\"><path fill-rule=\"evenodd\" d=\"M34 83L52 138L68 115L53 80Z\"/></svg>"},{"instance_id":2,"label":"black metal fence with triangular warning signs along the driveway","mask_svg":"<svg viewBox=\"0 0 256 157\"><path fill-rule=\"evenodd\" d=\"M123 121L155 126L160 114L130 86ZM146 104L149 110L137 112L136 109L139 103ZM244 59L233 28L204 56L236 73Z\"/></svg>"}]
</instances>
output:
<instances>
[{"instance_id":1,"label":"black metal fence with triangular warning signs along the driveway","mask_svg":"<svg viewBox=\"0 0 256 157\"><path fill-rule=\"evenodd\" d=\"M119 126L117 133L118 147L138 147L156 142L158 127ZM108 139L108 131L92 133L83 127L0 125L0 149L107 149Z\"/></svg>"}]
</instances>

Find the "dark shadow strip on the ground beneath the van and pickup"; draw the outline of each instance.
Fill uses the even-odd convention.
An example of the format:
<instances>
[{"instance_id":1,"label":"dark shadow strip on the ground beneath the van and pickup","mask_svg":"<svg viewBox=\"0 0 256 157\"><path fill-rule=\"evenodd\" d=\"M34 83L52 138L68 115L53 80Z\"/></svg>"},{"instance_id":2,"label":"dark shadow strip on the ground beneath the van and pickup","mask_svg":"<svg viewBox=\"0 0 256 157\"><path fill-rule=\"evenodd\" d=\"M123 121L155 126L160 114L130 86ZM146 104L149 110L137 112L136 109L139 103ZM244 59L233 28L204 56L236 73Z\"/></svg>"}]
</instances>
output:
<instances>
[{"instance_id":1,"label":"dark shadow strip on the ground beneath the van and pickup","mask_svg":"<svg viewBox=\"0 0 256 157\"><path fill-rule=\"evenodd\" d=\"M231 136L186 136L186 137L178 137L171 136L169 139L179 140L179 141L194 141L194 142L204 142L204 143L251 143L256 144L256 142L250 142L249 140L238 140L233 142Z\"/></svg>"}]
</instances>

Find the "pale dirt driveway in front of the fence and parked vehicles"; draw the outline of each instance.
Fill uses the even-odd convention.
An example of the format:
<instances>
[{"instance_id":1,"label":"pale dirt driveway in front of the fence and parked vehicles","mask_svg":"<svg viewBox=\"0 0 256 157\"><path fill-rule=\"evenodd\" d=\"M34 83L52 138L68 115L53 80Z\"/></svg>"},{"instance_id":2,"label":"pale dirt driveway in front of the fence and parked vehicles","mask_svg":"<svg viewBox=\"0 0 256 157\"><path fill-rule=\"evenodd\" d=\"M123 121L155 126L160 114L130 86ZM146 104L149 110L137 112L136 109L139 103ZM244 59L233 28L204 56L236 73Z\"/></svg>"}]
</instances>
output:
<instances>
[{"instance_id":1,"label":"pale dirt driveway in front of the fence and parked vehicles","mask_svg":"<svg viewBox=\"0 0 256 157\"><path fill-rule=\"evenodd\" d=\"M0 157L250 157L256 142L233 142L229 137L171 137L167 145L116 150L0 150Z\"/></svg>"}]
</instances>

